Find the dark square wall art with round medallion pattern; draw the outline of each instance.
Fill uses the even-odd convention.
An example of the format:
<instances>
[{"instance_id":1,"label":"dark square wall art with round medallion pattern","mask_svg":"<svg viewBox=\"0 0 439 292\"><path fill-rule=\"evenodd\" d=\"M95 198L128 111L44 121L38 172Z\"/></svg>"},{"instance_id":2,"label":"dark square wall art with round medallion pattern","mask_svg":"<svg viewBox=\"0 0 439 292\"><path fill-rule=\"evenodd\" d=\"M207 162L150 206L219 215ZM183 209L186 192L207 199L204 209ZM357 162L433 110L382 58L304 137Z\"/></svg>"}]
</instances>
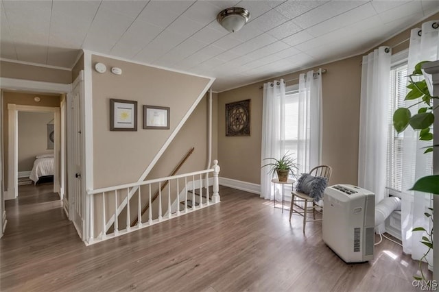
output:
<instances>
[{"instance_id":1,"label":"dark square wall art with round medallion pattern","mask_svg":"<svg viewBox=\"0 0 439 292\"><path fill-rule=\"evenodd\" d=\"M250 136L250 99L226 104L226 136Z\"/></svg>"}]
</instances>

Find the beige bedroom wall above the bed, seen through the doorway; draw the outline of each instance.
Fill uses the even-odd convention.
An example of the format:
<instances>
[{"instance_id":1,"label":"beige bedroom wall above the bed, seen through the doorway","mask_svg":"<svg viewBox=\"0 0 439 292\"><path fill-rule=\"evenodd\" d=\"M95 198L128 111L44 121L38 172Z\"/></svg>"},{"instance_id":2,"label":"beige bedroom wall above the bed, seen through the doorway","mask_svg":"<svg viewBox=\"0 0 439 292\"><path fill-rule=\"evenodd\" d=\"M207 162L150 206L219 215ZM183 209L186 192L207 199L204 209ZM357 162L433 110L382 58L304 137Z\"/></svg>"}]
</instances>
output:
<instances>
[{"instance_id":1,"label":"beige bedroom wall above the bed, seen through the doorway","mask_svg":"<svg viewBox=\"0 0 439 292\"><path fill-rule=\"evenodd\" d=\"M53 112L19 112L19 171L32 170L37 155L54 153L47 149L47 123L53 119Z\"/></svg>"}]
</instances>

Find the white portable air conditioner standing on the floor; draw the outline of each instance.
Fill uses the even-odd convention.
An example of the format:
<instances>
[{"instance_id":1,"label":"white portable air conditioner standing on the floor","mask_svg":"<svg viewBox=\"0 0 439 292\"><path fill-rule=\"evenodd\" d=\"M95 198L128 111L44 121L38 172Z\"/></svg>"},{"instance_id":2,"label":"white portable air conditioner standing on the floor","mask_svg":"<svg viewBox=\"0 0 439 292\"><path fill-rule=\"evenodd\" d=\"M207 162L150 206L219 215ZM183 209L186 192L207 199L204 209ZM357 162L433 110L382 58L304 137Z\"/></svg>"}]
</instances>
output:
<instances>
[{"instance_id":1,"label":"white portable air conditioner standing on the floor","mask_svg":"<svg viewBox=\"0 0 439 292\"><path fill-rule=\"evenodd\" d=\"M329 186L323 196L323 241L346 263L373 259L375 194L351 184Z\"/></svg>"}]
</instances>

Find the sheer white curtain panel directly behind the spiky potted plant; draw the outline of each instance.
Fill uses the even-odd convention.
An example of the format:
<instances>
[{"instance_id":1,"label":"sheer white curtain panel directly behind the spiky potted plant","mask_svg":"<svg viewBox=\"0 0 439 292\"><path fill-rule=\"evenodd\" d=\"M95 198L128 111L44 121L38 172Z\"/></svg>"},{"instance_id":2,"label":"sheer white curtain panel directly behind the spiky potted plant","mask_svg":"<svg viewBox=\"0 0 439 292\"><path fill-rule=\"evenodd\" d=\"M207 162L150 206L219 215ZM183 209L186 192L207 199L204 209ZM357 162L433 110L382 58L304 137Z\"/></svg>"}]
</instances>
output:
<instances>
[{"instance_id":1,"label":"sheer white curtain panel directly behind the spiky potted plant","mask_svg":"<svg viewBox=\"0 0 439 292\"><path fill-rule=\"evenodd\" d=\"M282 143L285 134L284 107L283 79L263 84L261 166L271 162L265 158L278 159L285 153L285 145ZM261 168L261 197L264 199L272 199L274 196L271 180L268 167ZM276 192L280 193L278 189ZM276 198L280 197L276 194Z\"/></svg>"}]
</instances>

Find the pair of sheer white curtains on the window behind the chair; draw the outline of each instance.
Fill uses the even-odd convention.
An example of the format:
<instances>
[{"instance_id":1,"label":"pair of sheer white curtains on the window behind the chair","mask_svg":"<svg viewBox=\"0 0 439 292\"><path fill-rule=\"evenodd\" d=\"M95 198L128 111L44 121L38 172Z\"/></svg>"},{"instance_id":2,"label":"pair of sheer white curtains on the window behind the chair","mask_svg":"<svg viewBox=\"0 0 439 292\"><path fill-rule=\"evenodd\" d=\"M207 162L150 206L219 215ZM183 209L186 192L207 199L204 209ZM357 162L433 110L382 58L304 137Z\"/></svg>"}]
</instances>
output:
<instances>
[{"instance_id":1,"label":"pair of sheer white curtains on the window behind the chair","mask_svg":"<svg viewBox=\"0 0 439 292\"><path fill-rule=\"evenodd\" d=\"M322 156L322 70L299 75L297 173L320 165ZM285 83L269 82L263 86L261 166L264 158L280 158L285 154ZM268 169L261 169L261 197L280 198L280 186L271 183Z\"/></svg>"}]
</instances>

